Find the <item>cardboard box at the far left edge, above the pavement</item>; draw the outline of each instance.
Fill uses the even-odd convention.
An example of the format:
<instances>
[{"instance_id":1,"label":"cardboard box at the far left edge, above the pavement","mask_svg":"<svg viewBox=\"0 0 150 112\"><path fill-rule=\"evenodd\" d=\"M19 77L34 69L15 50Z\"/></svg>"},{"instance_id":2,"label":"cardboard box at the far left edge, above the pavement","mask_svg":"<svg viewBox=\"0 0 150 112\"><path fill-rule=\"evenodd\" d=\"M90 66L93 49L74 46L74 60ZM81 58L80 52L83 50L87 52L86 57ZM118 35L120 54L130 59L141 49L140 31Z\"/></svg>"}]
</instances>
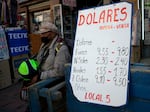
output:
<instances>
[{"instance_id":1,"label":"cardboard box at the far left edge, above the pavement","mask_svg":"<svg viewBox=\"0 0 150 112\"><path fill-rule=\"evenodd\" d=\"M0 61L0 89L12 84L11 72L8 60Z\"/></svg>"}]
</instances>

